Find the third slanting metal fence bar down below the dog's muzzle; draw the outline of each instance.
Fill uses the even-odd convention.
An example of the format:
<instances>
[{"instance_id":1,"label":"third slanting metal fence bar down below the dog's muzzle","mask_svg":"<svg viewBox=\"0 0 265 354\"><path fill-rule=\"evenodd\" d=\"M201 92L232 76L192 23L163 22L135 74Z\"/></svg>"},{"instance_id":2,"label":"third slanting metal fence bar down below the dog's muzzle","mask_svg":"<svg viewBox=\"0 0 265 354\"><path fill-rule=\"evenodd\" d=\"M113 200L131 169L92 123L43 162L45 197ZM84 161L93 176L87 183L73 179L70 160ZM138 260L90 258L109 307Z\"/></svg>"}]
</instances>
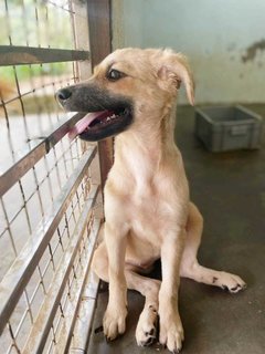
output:
<instances>
[{"instance_id":1,"label":"third slanting metal fence bar down below the dog's muzzle","mask_svg":"<svg viewBox=\"0 0 265 354\"><path fill-rule=\"evenodd\" d=\"M34 325L29 335L28 343L25 344L25 347L22 351L23 354L42 353L45 346L50 329L52 326L76 253L80 249L83 233L85 232L85 228L87 226L87 219L92 214L92 209L96 202L98 190L99 187L94 186L88 196L88 199L78 219L77 226L72 235L71 242L67 249L65 250L59 270L54 275L56 282L53 283L45 296L45 301L42 304L42 309L40 310L39 316L34 322ZM89 238L89 241L93 242L93 244L95 243L96 235L97 232L95 232L92 239ZM87 262L87 266L89 262Z\"/></svg>"}]
</instances>

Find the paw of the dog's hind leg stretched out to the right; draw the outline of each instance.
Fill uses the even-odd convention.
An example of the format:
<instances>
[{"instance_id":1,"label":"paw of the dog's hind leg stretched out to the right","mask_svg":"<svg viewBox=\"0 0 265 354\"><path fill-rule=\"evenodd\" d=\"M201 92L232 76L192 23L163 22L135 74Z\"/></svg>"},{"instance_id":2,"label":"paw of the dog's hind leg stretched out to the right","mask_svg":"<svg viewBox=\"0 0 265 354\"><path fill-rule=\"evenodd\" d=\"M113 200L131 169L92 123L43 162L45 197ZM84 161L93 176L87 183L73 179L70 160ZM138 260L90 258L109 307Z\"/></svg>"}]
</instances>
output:
<instances>
[{"instance_id":1,"label":"paw of the dog's hind leg stretched out to the right","mask_svg":"<svg viewBox=\"0 0 265 354\"><path fill-rule=\"evenodd\" d=\"M246 288L246 283L239 275L226 272L220 272L219 275L214 277L213 284L233 294Z\"/></svg>"}]
</instances>

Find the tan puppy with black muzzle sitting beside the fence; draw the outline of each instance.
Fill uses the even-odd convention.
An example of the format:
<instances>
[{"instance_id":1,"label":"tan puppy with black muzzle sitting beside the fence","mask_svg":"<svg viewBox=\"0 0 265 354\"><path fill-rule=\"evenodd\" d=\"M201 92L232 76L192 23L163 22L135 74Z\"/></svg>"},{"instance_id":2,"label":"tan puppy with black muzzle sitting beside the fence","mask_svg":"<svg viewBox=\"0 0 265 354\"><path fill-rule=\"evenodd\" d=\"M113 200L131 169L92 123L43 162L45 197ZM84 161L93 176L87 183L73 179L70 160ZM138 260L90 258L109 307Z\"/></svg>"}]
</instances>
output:
<instances>
[{"instance_id":1,"label":"tan puppy with black muzzle sitting beside the fence","mask_svg":"<svg viewBox=\"0 0 265 354\"><path fill-rule=\"evenodd\" d=\"M178 309L180 277L236 293L237 275L208 269L197 259L203 219L190 201L189 185L173 132L178 90L194 105L194 83L184 55L170 49L121 49L81 84L62 88L66 111L88 113L70 136L115 138L115 162L105 185L104 240L93 270L109 282L103 326L112 341L126 330L127 289L145 296L136 329L138 345L157 335L172 353L184 339ZM162 280L142 274L161 259Z\"/></svg>"}]
</instances>

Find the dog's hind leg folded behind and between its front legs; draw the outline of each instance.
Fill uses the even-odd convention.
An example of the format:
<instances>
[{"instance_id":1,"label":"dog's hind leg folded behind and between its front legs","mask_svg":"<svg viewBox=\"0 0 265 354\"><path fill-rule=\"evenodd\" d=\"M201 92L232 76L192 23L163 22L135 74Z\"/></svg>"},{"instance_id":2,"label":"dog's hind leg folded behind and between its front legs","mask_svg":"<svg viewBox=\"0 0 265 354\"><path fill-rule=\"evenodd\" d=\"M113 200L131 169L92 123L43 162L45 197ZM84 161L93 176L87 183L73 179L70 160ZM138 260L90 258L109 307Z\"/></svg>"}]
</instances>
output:
<instances>
[{"instance_id":1,"label":"dog's hind leg folded behind and between its front legs","mask_svg":"<svg viewBox=\"0 0 265 354\"><path fill-rule=\"evenodd\" d=\"M94 253L92 268L102 280L108 282L108 258L104 242ZM146 298L136 329L136 341L140 346L150 345L157 335L158 293L161 282L136 273L134 267L128 264L125 266L125 278L128 289L136 290Z\"/></svg>"}]
</instances>

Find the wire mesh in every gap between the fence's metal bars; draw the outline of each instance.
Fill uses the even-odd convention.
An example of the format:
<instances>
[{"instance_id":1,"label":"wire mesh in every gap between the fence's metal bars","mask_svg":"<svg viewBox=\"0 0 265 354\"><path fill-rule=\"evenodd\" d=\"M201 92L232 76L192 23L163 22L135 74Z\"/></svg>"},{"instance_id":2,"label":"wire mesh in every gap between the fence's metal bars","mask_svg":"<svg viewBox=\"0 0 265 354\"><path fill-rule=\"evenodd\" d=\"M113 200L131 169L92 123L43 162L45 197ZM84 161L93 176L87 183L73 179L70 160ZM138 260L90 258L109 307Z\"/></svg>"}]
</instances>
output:
<instances>
[{"instance_id":1,"label":"wire mesh in every gap between the fence's metal bars","mask_svg":"<svg viewBox=\"0 0 265 354\"><path fill-rule=\"evenodd\" d=\"M0 45L75 49L76 33L72 25L73 21L78 21L75 17L71 1L3 0L0 2ZM66 114L55 103L54 94L60 87L78 81L78 67L75 63L8 66L0 67L0 77L1 175L12 166L24 147L31 149L32 143L41 140L47 131L65 118ZM0 198L0 249L4 250L1 252L0 281L46 210L53 206L88 147L78 139L70 142L65 136ZM45 296L56 282L60 262L95 184L92 178L95 169L98 169L97 162L83 177L9 319L0 337L1 353L23 351ZM96 207L100 209L100 200ZM65 311L73 305L71 301L77 280L84 275L94 222L93 211L51 326L45 353L55 351L60 330L68 320Z\"/></svg>"}]
</instances>

